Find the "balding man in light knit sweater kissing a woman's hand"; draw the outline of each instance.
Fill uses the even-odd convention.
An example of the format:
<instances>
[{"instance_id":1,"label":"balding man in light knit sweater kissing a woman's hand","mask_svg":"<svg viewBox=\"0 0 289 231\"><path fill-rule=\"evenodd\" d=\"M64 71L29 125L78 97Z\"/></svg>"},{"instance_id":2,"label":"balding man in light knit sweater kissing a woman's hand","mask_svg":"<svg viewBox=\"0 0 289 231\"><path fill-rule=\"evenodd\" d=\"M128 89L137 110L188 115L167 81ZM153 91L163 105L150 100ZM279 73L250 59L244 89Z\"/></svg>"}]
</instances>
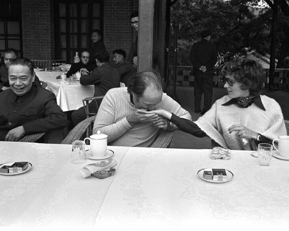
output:
<instances>
[{"instance_id":1,"label":"balding man in light knit sweater kissing a woman's hand","mask_svg":"<svg viewBox=\"0 0 289 231\"><path fill-rule=\"evenodd\" d=\"M155 108L163 108L191 120L188 111L163 93L160 75L140 72L129 79L127 88L114 88L107 92L98 110L93 133L99 130L107 134L107 142L111 146L149 147L159 128L176 129L161 116L141 113Z\"/></svg>"}]
</instances>

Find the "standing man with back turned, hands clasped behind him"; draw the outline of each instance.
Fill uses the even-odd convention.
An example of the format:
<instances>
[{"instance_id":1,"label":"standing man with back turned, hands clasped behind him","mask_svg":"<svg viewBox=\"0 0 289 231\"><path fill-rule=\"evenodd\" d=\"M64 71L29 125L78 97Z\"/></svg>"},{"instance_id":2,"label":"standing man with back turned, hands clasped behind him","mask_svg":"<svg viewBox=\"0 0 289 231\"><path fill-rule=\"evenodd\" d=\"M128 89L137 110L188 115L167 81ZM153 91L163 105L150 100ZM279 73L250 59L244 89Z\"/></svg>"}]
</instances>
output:
<instances>
[{"instance_id":1,"label":"standing man with back turned, hands clasped behind him","mask_svg":"<svg viewBox=\"0 0 289 231\"><path fill-rule=\"evenodd\" d=\"M217 62L215 45L210 43L211 32L206 29L201 33L202 40L193 44L190 54L194 66L194 102L195 112L201 112L201 99L204 92L204 115L212 106L213 96L213 66Z\"/></svg>"}]
</instances>

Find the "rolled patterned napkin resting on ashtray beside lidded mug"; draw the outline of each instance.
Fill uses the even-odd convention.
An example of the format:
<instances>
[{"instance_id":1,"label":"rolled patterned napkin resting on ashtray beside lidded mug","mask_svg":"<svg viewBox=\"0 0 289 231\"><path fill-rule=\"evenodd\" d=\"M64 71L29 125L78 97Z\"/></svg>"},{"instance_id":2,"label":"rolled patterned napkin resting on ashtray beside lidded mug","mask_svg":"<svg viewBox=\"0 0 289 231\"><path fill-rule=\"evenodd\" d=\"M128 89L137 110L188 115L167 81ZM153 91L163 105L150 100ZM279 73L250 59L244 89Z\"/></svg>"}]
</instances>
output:
<instances>
[{"instance_id":1,"label":"rolled patterned napkin resting on ashtray beside lidded mug","mask_svg":"<svg viewBox=\"0 0 289 231\"><path fill-rule=\"evenodd\" d=\"M90 174L92 173L109 170L111 167L115 165L117 165L117 161L113 158L109 158L107 160L103 160L100 162L84 166L80 170L80 173L82 174L82 177L85 178L90 176Z\"/></svg>"}]
</instances>

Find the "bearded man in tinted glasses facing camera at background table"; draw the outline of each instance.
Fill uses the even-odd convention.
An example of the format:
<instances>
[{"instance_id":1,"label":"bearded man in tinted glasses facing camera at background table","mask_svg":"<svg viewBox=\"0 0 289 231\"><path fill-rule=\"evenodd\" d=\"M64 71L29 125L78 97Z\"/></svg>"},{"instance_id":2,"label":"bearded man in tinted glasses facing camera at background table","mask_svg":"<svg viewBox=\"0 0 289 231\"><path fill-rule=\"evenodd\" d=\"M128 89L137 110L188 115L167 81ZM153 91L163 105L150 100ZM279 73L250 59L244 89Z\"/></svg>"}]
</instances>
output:
<instances>
[{"instance_id":1,"label":"bearded man in tinted glasses facing camera at background table","mask_svg":"<svg viewBox=\"0 0 289 231\"><path fill-rule=\"evenodd\" d=\"M91 72L96 67L97 66L95 62L89 63L89 52L82 51L80 62L71 64L69 71L66 73L66 77L69 78L71 75L75 74L76 72L80 72L81 74L86 71ZM59 76L59 79L60 79L60 76Z\"/></svg>"}]
</instances>

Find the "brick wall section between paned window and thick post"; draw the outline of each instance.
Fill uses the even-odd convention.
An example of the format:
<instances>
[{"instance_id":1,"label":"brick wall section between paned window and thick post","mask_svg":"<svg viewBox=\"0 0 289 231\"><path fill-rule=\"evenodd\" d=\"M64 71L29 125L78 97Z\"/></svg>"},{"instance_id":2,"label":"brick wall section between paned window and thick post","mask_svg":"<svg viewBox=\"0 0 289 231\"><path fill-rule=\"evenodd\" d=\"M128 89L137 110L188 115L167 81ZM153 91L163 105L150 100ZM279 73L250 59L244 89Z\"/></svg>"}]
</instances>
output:
<instances>
[{"instance_id":1,"label":"brick wall section between paned window and thick post","mask_svg":"<svg viewBox=\"0 0 289 231\"><path fill-rule=\"evenodd\" d=\"M112 51L123 49L129 55L129 49L137 32L130 25L130 15L138 11L138 0L104 1L104 44L113 60Z\"/></svg>"}]
</instances>

